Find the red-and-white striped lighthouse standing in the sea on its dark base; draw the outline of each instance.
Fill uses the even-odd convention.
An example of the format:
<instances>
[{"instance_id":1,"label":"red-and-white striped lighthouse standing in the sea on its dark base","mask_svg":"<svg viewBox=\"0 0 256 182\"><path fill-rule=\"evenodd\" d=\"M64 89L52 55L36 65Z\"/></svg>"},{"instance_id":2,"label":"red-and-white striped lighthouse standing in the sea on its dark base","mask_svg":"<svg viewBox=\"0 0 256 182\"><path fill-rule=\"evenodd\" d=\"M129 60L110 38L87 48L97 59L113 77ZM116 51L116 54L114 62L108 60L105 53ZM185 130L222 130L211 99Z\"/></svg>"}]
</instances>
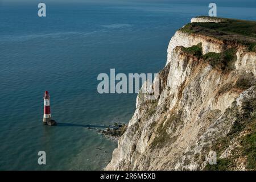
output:
<instances>
[{"instance_id":1,"label":"red-and-white striped lighthouse standing in the sea on its dark base","mask_svg":"<svg viewBox=\"0 0 256 182\"><path fill-rule=\"evenodd\" d=\"M49 104L49 92L44 92L44 117L43 117L44 125L56 125L56 122L51 118L51 110Z\"/></svg>"}]
</instances>

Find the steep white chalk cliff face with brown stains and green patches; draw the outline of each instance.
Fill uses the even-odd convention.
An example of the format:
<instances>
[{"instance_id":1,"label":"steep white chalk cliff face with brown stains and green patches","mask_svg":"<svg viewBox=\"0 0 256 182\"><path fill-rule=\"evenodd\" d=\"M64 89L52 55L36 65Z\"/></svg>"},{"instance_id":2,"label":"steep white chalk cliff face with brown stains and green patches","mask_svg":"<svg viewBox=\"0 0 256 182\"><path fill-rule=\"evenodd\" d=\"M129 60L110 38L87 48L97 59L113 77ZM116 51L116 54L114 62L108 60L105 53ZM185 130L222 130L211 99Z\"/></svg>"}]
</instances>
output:
<instances>
[{"instance_id":1,"label":"steep white chalk cliff face with brown stains and green patches","mask_svg":"<svg viewBox=\"0 0 256 182\"><path fill-rule=\"evenodd\" d=\"M191 22L222 20L207 19ZM138 94L105 169L255 169L256 52L246 45L178 30L159 72L159 98Z\"/></svg>"}]
</instances>

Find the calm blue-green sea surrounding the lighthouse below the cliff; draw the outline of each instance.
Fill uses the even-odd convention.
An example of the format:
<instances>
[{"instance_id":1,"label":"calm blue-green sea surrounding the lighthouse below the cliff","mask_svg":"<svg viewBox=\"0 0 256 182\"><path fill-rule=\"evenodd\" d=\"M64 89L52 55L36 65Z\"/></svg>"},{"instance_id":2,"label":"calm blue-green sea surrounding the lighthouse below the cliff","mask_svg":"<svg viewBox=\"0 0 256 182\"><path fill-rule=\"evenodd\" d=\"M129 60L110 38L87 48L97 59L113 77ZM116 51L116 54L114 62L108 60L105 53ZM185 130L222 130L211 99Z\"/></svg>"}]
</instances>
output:
<instances>
[{"instance_id":1,"label":"calm blue-green sea surrounding the lighthouse below the cliff","mask_svg":"<svg viewBox=\"0 0 256 182\"><path fill-rule=\"evenodd\" d=\"M0 169L103 169L117 143L85 126L129 122L136 94L98 94L98 74L158 72L171 36L208 4L57 1L39 18L38 2L0 2ZM256 19L255 7L217 14ZM42 125L45 90L56 127Z\"/></svg>"}]
</instances>

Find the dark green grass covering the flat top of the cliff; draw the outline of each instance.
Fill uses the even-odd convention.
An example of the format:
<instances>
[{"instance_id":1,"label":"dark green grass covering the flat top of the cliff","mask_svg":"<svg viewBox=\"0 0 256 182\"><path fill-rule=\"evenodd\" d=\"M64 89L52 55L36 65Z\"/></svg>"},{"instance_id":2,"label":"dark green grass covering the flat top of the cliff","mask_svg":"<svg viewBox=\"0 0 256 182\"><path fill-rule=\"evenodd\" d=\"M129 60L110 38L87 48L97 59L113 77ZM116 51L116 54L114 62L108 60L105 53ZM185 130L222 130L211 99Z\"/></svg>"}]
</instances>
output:
<instances>
[{"instance_id":1,"label":"dark green grass covering the flat top of the cliff","mask_svg":"<svg viewBox=\"0 0 256 182\"><path fill-rule=\"evenodd\" d=\"M210 18L210 17L207 17ZM189 34L212 36L230 43L247 46L249 51L256 51L256 22L248 20L221 18L222 22L188 23L180 31Z\"/></svg>"}]
</instances>

